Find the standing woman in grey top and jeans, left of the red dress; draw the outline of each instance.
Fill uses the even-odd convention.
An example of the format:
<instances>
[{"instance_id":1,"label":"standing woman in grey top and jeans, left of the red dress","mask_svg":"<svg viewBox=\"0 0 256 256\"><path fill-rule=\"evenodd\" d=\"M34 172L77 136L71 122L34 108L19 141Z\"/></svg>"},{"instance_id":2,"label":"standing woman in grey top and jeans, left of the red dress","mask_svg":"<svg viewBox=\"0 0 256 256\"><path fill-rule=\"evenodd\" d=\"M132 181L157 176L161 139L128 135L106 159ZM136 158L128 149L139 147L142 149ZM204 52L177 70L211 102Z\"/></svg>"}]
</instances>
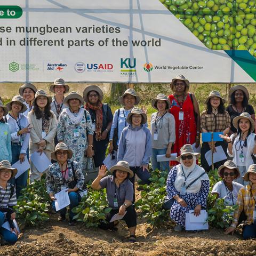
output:
<instances>
[{"instance_id":1,"label":"standing woman in grey top and jeans, left of the red dress","mask_svg":"<svg viewBox=\"0 0 256 256\"><path fill-rule=\"evenodd\" d=\"M151 101L151 106L157 112L151 115L151 135L152 142L152 156L151 164L153 170L158 169L169 172L169 163L157 162L157 155L171 156L171 148L175 142L175 119L169 113L171 106L170 100L163 93L159 93L155 99Z\"/></svg>"}]
</instances>

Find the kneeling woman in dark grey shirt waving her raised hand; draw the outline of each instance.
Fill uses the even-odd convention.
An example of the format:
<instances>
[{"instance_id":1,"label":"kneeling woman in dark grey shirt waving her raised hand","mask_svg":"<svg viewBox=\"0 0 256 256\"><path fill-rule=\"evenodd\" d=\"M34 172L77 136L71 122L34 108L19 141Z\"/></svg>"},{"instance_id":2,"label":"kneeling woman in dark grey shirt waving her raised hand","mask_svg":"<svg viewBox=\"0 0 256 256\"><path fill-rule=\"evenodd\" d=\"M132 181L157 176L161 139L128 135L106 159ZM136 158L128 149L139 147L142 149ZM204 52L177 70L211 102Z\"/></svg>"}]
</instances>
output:
<instances>
[{"instance_id":1,"label":"kneeling woman in dark grey shirt waving her raised hand","mask_svg":"<svg viewBox=\"0 0 256 256\"><path fill-rule=\"evenodd\" d=\"M130 170L129 164L126 161L119 161L115 166L110 168L113 175L108 175L105 165L99 168L98 177L92 182L93 189L107 189L108 205L112 208L107 221L116 214L123 215L127 227L130 231L130 242L136 241L135 230L137 226L137 217L134 206L132 205L133 199L133 186L128 178L133 177L133 172ZM105 177L105 178L103 178ZM114 224L113 224L114 227Z\"/></svg>"}]
</instances>

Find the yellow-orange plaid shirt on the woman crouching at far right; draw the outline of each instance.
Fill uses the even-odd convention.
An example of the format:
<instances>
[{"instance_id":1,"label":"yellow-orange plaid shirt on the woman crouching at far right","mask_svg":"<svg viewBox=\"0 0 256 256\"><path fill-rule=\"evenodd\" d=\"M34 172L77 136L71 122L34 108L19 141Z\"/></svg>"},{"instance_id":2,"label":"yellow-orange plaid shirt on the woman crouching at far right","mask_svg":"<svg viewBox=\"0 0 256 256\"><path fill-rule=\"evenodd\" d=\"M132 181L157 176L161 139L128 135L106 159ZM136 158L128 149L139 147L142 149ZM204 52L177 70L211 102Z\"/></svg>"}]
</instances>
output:
<instances>
[{"instance_id":1,"label":"yellow-orange plaid shirt on the woman crouching at far right","mask_svg":"<svg viewBox=\"0 0 256 256\"><path fill-rule=\"evenodd\" d=\"M253 210L255 209L256 189L251 189L250 185L241 188L238 192L237 204L238 209L234 212L234 220L231 227L236 227L241 212L244 210L247 219L244 225L250 225L253 223Z\"/></svg>"}]
</instances>

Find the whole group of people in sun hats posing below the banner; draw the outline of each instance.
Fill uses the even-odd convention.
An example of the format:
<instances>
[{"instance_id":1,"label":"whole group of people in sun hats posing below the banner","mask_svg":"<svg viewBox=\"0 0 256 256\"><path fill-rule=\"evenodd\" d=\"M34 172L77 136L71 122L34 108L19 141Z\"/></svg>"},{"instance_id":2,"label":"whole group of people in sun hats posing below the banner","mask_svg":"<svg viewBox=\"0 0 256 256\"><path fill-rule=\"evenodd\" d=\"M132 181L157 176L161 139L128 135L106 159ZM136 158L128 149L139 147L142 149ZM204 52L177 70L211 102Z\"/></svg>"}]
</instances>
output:
<instances>
[{"instance_id":1,"label":"whole group of people in sun hats posing below the banner","mask_svg":"<svg viewBox=\"0 0 256 256\"><path fill-rule=\"evenodd\" d=\"M50 97L31 83L23 84L20 95L15 95L6 106L0 101L0 211L2 207L12 210L21 189L27 185L28 171L15 178L17 170L11 165L17 161L22 163L25 157L30 158L37 152L45 154L52 165L42 173L30 161L29 181L39 180L46 173L46 189L53 210L54 194L62 189L68 191L69 225L75 225L71 209L83 196L86 171L99 167L92 188L107 189L108 204L112 208L107 220L116 213L124 215L126 212L123 219L130 230L129 240L135 242L134 178L136 174L142 183L150 183L151 162L153 170L169 172L166 198L171 201L170 217L177 223L175 230L181 231L189 210L199 215L201 209L206 208L210 186L207 172L211 164L205 154L207 151L216 152L220 146L225 156L214 163L214 168L218 169L223 181L214 186L212 193L225 198L228 205L245 202L243 198L249 195L246 193L251 193L246 199L250 205L239 205L233 226L226 232L233 232L241 217L245 220L244 227L250 226L244 229L244 237L256 237L251 226L254 225L252 207L255 207L253 163L256 134L254 110L248 103L249 92L242 85L231 87L231 104L225 109L225 99L220 92L212 91L200 115L196 97L189 93L189 81L183 75L173 78L170 86L173 94L167 97L159 93L151 101L156 112L151 115L149 129L147 109L135 107L141 98L134 89L127 89L119 97L122 108L117 109L113 116L108 104L102 102L103 92L99 86L89 85L83 95L73 91L65 97L69 86L58 78L50 86L54 93ZM199 153L195 153L195 149L200 147L201 134L205 132L219 132L221 139L202 143L202 166L198 166ZM112 159L116 157L118 162L108 170L112 175L105 177L107 169L103 160L107 148ZM170 158L173 154L177 157ZM165 155L166 161L158 162L158 155ZM233 158L233 162L227 161L227 157ZM12 187L15 189L10 197L6 191ZM12 217L9 215L5 212L3 221L15 219L13 211ZM59 211L59 220L66 220L66 208ZM106 226L102 223L102 228L115 228L115 224L111 222ZM0 233L7 242L13 242L13 238L9 239L10 234L6 235L2 229Z\"/></svg>"}]
</instances>

